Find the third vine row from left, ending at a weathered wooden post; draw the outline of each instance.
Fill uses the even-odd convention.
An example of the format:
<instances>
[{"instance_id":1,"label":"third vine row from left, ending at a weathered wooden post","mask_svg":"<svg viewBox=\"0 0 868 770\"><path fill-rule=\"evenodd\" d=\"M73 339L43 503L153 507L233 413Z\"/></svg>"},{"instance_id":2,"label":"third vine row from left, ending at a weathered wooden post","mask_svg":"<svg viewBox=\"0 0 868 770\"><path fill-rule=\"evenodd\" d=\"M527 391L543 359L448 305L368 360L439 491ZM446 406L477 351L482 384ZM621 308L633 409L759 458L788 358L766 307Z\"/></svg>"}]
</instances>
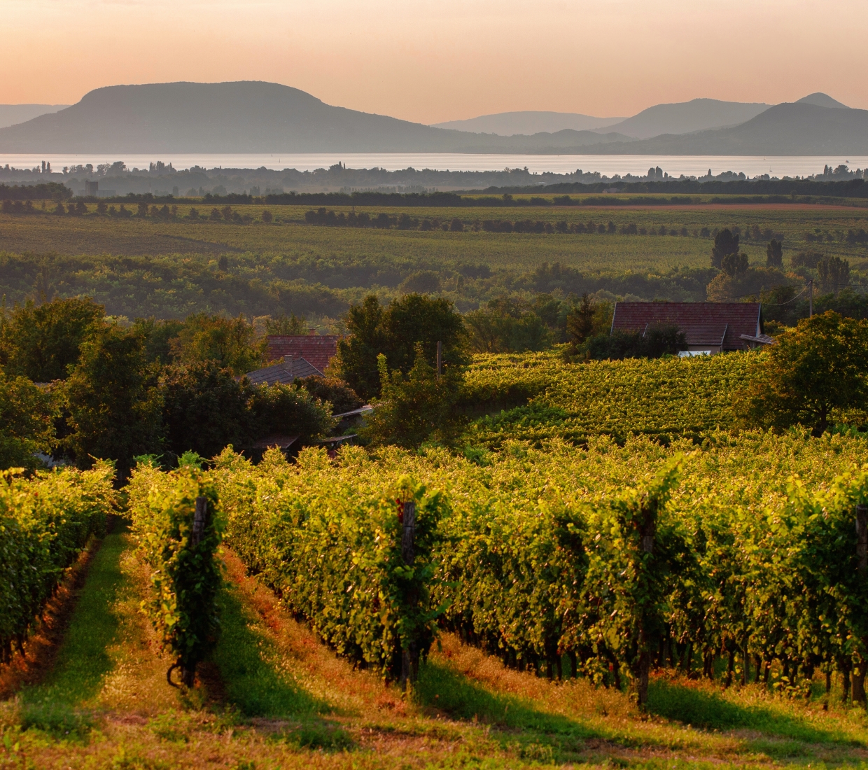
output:
<instances>
[{"instance_id":1,"label":"third vine row from left, ending at a weathered wooden post","mask_svg":"<svg viewBox=\"0 0 868 770\"><path fill-rule=\"evenodd\" d=\"M424 656L434 636L431 554L448 507L410 478L365 472L364 452L343 457L336 467L325 451L308 449L289 465L270 450L253 467L225 451L212 473L227 543L340 655L394 679L401 649L414 645ZM409 566L396 499L417 505Z\"/></svg>"}]
</instances>

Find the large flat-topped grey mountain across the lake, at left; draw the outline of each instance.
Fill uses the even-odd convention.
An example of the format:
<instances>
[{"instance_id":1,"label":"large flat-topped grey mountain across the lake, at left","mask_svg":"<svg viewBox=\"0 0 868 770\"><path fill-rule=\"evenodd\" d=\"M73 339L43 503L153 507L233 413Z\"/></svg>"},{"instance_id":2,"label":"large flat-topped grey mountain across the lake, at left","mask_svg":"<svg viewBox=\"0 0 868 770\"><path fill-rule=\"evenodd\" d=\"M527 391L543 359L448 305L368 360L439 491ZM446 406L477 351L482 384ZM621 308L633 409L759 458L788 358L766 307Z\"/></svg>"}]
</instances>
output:
<instances>
[{"instance_id":1,"label":"large flat-topped grey mountain across the lake, at left","mask_svg":"<svg viewBox=\"0 0 868 770\"><path fill-rule=\"evenodd\" d=\"M332 107L278 83L172 82L109 86L53 115L0 128L7 153L549 153L619 134L565 131L492 136L431 128Z\"/></svg>"}]
</instances>

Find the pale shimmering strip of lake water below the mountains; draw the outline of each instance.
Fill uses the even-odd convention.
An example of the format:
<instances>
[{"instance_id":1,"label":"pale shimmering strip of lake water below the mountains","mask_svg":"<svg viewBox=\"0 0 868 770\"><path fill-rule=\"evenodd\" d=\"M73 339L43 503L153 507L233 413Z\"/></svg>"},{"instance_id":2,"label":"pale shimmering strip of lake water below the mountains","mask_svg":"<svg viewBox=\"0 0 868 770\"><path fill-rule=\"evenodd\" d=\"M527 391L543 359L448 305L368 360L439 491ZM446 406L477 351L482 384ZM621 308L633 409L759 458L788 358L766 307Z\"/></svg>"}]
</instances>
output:
<instances>
[{"instance_id":1,"label":"pale shimmering strip of lake water below the mountains","mask_svg":"<svg viewBox=\"0 0 868 770\"><path fill-rule=\"evenodd\" d=\"M53 171L64 166L124 161L127 168L148 168L153 161L171 163L176 170L193 168L295 168L312 171L328 168L342 162L347 168L385 168L398 171L404 168L432 168L450 171L499 171L503 168L525 168L533 173L572 173L576 168L585 172L598 171L604 176L613 174L646 174L648 168L659 166L670 176L702 176L724 171L743 172L748 176L807 176L821 174L823 167L832 168L844 163L850 168L868 166L868 156L852 155L470 155L459 153L301 153L295 155L235 154L235 155L0 155L0 166L33 168L49 161Z\"/></svg>"}]
</instances>

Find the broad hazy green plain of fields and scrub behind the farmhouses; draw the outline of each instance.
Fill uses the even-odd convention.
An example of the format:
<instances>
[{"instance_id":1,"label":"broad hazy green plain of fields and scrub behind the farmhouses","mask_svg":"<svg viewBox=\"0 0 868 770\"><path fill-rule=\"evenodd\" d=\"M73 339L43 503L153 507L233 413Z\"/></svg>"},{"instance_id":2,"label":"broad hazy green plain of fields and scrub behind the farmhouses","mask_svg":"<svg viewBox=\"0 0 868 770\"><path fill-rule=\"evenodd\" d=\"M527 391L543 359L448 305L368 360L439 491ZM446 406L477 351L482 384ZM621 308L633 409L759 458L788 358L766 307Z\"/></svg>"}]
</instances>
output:
<instances>
[{"instance_id":1,"label":"broad hazy green plain of fields and scrub behind the farmhouses","mask_svg":"<svg viewBox=\"0 0 868 770\"><path fill-rule=\"evenodd\" d=\"M712 234L722 227L740 228L753 265L765 265L766 242L773 236L783 237L785 266L804 249L848 260L853 280L862 280L868 265L865 243L847 240L850 231L865 230L868 217L863 209L843 206L670 203L354 212L371 220L385 214L393 223L406 214L411 229L309 225L309 209L293 206L233 206L233 214L248 224L191 220L190 207L198 207L201 217L211 215L213 207L199 201L179 205L176 217L167 208L168 217L141 219L97 216L94 204L82 216L42 214L38 206L36 214L0 214L0 291L6 301L39 293L87 294L109 313L131 319L198 311L297 313L330 326L366 293L391 299L414 290L441 293L462 311L503 293L705 299L715 274L709 267ZM261 220L266 208L273 217L267 224ZM350 207L334 212L353 213ZM418 229L425 220L432 229ZM452 220L464 232L444 232ZM585 231L593 222L607 232L484 229L486 221L503 220L533 227L539 222L553 230L560 222ZM636 234L625 232L631 226ZM752 232L755 237L746 238Z\"/></svg>"}]
</instances>

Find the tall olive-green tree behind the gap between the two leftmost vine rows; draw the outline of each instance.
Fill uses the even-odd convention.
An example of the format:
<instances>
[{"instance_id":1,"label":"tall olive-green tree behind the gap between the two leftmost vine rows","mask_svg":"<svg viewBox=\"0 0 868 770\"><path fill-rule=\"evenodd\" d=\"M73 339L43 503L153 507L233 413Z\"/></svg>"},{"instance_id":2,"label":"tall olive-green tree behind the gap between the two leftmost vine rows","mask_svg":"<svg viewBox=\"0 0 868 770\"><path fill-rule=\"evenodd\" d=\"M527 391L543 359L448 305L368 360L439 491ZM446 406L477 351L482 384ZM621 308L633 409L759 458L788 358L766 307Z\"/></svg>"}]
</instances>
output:
<instances>
[{"instance_id":1,"label":"tall olive-green tree behind the gap between the two leftmost vine rows","mask_svg":"<svg viewBox=\"0 0 868 770\"><path fill-rule=\"evenodd\" d=\"M63 445L82 468L96 458L115 460L123 478L133 457L160 451L157 369L148 365L143 343L119 326L82 343L81 358L60 389L69 428Z\"/></svg>"}]
</instances>

